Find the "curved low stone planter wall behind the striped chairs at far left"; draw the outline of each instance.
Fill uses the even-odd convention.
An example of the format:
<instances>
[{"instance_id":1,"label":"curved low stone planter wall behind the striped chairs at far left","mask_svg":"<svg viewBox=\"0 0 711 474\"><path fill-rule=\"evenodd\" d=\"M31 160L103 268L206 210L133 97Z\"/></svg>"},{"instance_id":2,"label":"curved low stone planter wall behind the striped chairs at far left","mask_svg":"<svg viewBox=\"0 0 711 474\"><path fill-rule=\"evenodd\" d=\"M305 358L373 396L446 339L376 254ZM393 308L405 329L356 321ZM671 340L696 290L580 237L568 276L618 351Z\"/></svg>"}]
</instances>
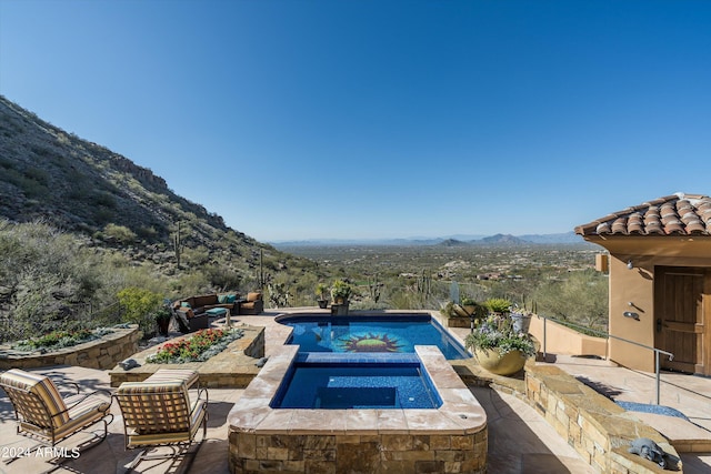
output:
<instances>
[{"instance_id":1,"label":"curved low stone planter wall behind the striped chairs at far left","mask_svg":"<svg viewBox=\"0 0 711 474\"><path fill-rule=\"evenodd\" d=\"M113 332L96 341L40 354L22 353L9 349L0 353L0 370L33 369L51 365L77 365L87 369L106 370L130 357L138 351L141 332L138 325L112 327Z\"/></svg>"}]
</instances>

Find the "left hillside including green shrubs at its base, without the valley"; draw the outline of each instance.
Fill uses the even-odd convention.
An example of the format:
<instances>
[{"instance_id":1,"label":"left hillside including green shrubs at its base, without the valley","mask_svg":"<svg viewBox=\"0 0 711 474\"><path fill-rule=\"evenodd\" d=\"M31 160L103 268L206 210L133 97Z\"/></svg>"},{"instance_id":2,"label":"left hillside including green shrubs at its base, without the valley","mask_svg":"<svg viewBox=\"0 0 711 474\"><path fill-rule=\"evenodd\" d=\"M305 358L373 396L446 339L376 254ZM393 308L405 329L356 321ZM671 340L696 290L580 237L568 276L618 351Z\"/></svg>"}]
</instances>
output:
<instances>
[{"instance_id":1,"label":"left hillside including green shrubs at its base, without the valley","mask_svg":"<svg viewBox=\"0 0 711 474\"><path fill-rule=\"evenodd\" d=\"M0 97L3 337L91 317L123 288L170 299L297 279L311 286L317 272L228 228L151 170Z\"/></svg>"}]
</instances>

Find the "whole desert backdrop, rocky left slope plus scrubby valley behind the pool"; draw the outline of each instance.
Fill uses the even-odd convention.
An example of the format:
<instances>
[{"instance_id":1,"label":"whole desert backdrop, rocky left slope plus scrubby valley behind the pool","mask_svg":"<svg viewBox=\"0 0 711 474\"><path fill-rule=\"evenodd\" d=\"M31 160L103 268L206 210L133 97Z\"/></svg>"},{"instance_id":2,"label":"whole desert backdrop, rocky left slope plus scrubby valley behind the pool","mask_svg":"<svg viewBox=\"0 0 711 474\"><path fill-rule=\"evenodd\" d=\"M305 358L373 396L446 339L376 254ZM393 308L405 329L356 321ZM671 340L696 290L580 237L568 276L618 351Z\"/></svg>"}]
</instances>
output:
<instances>
[{"instance_id":1,"label":"whole desert backdrop, rocky left slope plus scrubby valley behind the pool","mask_svg":"<svg viewBox=\"0 0 711 474\"><path fill-rule=\"evenodd\" d=\"M314 305L317 283L337 279L352 285L356 310L439 310L457 288L604 329L595 252L510 235L278 250L0 97L0 341L124 320L150 333L163 299L213 291L260 289L267 307Z\"/></svg>"}]
</instances>

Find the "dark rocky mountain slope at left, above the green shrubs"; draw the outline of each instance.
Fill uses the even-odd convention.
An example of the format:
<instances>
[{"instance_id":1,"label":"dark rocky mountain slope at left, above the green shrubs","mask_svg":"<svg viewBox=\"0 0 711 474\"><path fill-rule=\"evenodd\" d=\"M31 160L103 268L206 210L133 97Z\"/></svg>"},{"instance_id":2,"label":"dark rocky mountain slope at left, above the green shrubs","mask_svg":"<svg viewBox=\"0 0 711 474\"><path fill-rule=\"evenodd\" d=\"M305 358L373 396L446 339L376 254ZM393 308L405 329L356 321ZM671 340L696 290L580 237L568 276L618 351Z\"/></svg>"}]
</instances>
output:
<instances>
[{"instance_id":1,"label":"dark rocky mountain slope at left, above the green shrubs","mask_svg":"<svg viewBox=\"0 0 711 474\"><path fill-rule=\"evenodd\" d=\"M0 218L41 221L168 273L176 268L177 243L183 268L219 262L242 278L254 274L260 259L267 271L310 265L228 228L151 170L1 95Z\"/></svg>"}]
</instances>

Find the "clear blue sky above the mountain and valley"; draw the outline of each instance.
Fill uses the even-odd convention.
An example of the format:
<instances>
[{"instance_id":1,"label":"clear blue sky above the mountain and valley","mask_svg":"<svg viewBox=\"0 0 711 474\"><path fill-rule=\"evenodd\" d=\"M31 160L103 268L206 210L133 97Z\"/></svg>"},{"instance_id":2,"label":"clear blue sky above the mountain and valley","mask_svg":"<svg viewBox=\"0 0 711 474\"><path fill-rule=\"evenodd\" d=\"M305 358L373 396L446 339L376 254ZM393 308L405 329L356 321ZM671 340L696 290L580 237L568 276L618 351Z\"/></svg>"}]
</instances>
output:
<instances>
[{"instance_id":1,"label":"clear blue sky above the mountain and valley","mask_svg":"<svg viewBox=\"0 0 711 474\"><path fill-rule=\"evenodd\" d=\"M0 93L261 241L711 193L711 2L0 0Z\"/></svg>"}]
</instances>

